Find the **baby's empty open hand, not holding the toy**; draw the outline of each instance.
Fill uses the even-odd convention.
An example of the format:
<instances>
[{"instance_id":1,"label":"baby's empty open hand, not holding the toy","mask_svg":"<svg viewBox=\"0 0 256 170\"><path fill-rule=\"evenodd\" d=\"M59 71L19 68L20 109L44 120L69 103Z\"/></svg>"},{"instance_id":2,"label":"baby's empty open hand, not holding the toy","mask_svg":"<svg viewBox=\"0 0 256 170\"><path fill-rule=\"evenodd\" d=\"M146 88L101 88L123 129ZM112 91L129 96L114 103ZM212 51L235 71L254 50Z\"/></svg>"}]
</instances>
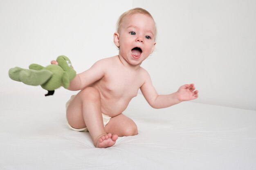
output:
<instances>
[{"instance_id":1,"label":"baby's empty open hand, not holding the toy","mask_svg":"<svg viewBox=\"0 0 256 170\"><path fill-rule=\"evenodd\" d=\"M195 91L194 84L185 84L177 91L177 99L180 102L189 101L198 98L198 91Z\"/></svg>"}]
</instances>

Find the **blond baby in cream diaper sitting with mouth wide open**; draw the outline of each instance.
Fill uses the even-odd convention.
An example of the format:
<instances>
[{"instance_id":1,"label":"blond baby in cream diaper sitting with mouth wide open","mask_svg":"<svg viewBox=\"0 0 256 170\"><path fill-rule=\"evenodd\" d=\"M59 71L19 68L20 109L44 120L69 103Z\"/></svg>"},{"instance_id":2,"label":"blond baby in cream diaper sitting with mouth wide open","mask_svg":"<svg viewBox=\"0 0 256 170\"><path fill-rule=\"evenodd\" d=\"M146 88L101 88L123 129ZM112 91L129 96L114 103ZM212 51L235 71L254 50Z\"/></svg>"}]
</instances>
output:
<instances>
[{"instance_id":1,"label":"blond baby in cream diaper sitting with mouth wide open","mask_svg":"<svg viewBox=\"0 0 256 170\"><path fill-rule=\"evenodd\" d=\"M154 51L156 25L141 8L123 13L114 33L119 54L97 61L70 82L71 91L81 90L67 102L67 122L77 131L89 131L98 148L113 146L118 137L137 135L137 126L122 112L140 89L153 108L166 108L196 99L198 91L186 84L170 95L158 95L141 63ZM52 64L57 64L52 61Z\"/></svg>"}]
</instances>

